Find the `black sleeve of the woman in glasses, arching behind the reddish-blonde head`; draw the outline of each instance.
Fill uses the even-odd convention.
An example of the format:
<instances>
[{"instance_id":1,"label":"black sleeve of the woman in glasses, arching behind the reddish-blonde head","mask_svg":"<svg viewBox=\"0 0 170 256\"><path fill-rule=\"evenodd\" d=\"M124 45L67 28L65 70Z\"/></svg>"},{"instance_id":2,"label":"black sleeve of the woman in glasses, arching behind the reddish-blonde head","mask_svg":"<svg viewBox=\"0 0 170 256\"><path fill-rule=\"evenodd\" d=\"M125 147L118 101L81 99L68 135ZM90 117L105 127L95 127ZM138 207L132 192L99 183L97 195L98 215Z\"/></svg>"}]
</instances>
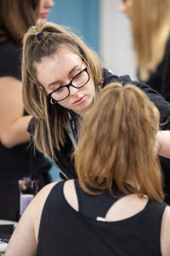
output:
<instances>
[{"instance_id":1,"label":"black sleeve of the woman in glasses, arching behind the reddish-blonde head","mask_svg":"<svg viewBox=\"0 0 170 256\"><path fill-rule=\"evenodd\" d=\"M122 85L134 84L138 86L141 90L144 90L147 96L149 96L150 101L154 102L156 108L158 108L160 111L161 124L165 124L161 126L161 129L170 130L170 103L167 102L156 90L151 89L148 84L131 80L128 75L118 77L109 72L107 69L104 69L104 78L105 79L103 87L105 87L107 84L119 82Z\"/></svg>"}]
</instances>

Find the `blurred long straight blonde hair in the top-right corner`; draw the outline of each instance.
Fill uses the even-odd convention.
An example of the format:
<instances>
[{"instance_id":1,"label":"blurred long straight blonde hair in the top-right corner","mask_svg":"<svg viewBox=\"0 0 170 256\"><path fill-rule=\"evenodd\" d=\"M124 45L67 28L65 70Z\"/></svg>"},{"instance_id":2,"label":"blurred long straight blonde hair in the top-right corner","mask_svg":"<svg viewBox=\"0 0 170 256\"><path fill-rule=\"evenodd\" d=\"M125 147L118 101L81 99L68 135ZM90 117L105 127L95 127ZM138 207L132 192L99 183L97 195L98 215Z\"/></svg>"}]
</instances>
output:
<instances>
[{"instance_id":1,"label":"blurred long straight blonde hair in the top-right corner","mask_svg":"<svg viewBox=\"0 0 170 256\"><path fill-rule=\"evenodd\" d=\"M146 81L165 55L170 0L132 0L131 22L139 78Z\"/></svg>"}]
</instances>

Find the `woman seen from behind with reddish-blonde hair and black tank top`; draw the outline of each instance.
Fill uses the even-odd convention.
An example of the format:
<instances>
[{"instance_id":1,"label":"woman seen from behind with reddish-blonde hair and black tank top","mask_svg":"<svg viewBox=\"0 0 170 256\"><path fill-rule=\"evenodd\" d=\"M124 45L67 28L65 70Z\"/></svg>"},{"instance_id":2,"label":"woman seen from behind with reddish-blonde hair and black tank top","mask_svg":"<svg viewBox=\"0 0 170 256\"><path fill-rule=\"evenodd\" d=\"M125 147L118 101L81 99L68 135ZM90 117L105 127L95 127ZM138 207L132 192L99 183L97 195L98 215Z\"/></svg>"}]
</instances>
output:
<instances>
[{"instance_id":1,"label":"woman seen from behind with reddish-blonde hair and black tank top","mask_svg":"<svg viewBox=\"0 0 170 256\"><path fill-rule=\"evenodd\" d=\"M156 157L159 119L136 86L101 90L75 151L78 179L41 190L5 256L170 255L170 207Z\"/></svg>"}]
</instances>

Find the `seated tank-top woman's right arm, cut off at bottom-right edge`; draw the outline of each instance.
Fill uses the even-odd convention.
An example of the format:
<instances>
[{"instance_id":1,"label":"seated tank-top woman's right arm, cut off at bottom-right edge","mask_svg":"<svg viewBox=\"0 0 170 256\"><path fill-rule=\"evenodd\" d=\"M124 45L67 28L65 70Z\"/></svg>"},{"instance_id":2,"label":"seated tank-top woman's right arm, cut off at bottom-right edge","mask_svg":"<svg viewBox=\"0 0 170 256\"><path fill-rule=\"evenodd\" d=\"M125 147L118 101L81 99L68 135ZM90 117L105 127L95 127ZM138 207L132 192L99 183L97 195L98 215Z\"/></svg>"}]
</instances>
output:
<instances>
[{"instance_id":1,"label":"seated tank-top woman's right arm, cut off at bottom-right edge","mask_svg":"<svg viewBox=\"0 0 170 256\"><path fill-rule=\"evenodd\" d=\"M161 221L161 255L170 255L170 207L166 207Z\"/></svg>"}]
</instances>

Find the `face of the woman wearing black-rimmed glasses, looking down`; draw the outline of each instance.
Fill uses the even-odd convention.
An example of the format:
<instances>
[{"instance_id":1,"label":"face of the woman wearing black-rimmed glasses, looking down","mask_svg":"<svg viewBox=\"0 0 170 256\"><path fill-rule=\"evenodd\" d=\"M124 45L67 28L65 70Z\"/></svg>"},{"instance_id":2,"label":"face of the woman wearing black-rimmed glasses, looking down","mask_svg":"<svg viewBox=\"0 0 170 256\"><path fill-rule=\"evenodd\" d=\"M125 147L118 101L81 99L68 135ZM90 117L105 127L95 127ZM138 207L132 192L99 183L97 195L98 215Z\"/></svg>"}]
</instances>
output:
<instances>
[{"instance_id":1,"label":"face of the woman wearing black-rimmed glasses, looking down","mask_svg":"<svg viewBox=\"0 0 170 256\"><path fill-rule=\"evenodd\" d=\"M73 53L67 47L64 49L61 46L54 55L43 57L41 62L34 64L34 67L36 67L37 71L37 80L42 84L47 94L49 94L60 86L69 84L71 79L80 73L86 65L80 56ZM82 88L70 86L69 89L70 95L64 100L57 102L57 104L72 110L83 118L93 104L95 93L94 81L90 77L88 83Z\"/></svg>"}]
</instances>

